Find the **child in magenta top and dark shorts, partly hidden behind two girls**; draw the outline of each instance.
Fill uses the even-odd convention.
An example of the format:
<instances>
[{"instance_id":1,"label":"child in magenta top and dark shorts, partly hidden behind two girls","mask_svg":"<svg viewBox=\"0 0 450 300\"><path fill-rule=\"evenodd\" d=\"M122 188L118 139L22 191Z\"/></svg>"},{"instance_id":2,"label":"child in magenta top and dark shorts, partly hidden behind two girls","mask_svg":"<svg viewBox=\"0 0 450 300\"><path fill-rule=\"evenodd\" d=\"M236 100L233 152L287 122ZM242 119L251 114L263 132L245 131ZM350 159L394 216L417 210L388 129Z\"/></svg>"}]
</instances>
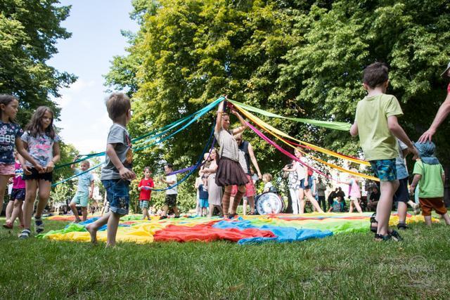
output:
<instances>
[{"instance_id":1,"label":"child in magenta top and dark shorts, partly hidden behind two girls","mask_svg":"<svg viewBox=\"0 0 450 300\"><path fill-rule=\"evenodd\" d=\"M10 202L13 202L13 211L11 216L6 219L4 228L13 229L16 218L20 221L20 227L23 228L23 200L25 200L25 181L22 179L23 169L20 165L18 153L15 152L15 177L13 179L13 190L11 191Z\"/></svg>"}]
</instances>

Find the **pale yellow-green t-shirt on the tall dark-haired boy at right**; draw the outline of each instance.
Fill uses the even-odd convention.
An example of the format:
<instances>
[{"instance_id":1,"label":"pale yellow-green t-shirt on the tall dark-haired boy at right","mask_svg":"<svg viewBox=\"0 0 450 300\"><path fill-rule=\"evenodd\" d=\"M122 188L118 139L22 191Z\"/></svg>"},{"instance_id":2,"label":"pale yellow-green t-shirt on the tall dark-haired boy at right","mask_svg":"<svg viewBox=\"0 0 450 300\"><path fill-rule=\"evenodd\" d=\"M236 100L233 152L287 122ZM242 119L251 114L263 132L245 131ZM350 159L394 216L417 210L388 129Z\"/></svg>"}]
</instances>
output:
<instances>
[{"instance_id":1,"label":"pale yellow-green t-shirt on the tall dark-haired boy at right","mask_svg":"<svg viewBox=\"0 0 450 300\"><path fill-rule=\"evenodd\" d=\"M381 94L366 97L356 107L359 144L367 160L392 159L399 155L397 140L387 127L387 117L402 116L397 98Z\"/></svg>"}]
</instances>

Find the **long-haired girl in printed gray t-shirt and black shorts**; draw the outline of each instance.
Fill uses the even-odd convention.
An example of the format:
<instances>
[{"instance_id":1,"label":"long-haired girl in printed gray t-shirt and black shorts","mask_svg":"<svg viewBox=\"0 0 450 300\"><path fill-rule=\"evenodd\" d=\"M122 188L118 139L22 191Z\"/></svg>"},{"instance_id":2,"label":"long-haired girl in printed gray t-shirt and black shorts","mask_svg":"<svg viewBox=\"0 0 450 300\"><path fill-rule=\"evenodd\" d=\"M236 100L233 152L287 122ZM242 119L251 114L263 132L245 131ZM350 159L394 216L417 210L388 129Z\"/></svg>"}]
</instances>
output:
<instances>
[{"instance_id":1,"label":"long-haired girl in printed gray t-shirt and black shorts","mask_svg":"<svg viewBox=\"0 0 450 300\"><path fill-rule=\"evenodd\" d=\"M37 190L39 190L39 201L36 214L34 214L34 229L36 233L44 231L41 216L49 201L53 168L60 159L60 138L53 128L53 111L49 107L37 107L25 133L23 133L22 141L30 155L39 162L39 165L45 166L44 171L39 171L39 169L32 167L30 162L25 162L23 157L19 157L24 171L23 180L26 189L23 210L25 229L22 230L19 237L25 239L30 237L31 234L31 217Z\"/></svg>"}]
</instances>

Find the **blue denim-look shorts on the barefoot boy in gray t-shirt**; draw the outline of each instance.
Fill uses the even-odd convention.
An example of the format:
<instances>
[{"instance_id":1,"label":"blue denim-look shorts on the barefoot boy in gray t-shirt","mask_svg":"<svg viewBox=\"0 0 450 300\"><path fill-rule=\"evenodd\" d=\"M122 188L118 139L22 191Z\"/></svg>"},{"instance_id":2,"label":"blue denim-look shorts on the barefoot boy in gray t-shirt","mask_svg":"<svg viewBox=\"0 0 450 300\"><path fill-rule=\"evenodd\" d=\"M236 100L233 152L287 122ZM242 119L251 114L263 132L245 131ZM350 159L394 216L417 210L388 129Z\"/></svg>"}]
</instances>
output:
<instances>
[{"instance_id":1,"label":"blue denim-look shorts on the barefoot boy in gray t-shirt","mask_svg":"<svg viewBox=\"0 0 450 300\"><path fill-rule=\"evenodd\" d=\"M106 190L106 197L110 202L110 211L122 216L128 214L129 209L129 181L111 179L101 181Z\"/></svg>"}]
</instances>

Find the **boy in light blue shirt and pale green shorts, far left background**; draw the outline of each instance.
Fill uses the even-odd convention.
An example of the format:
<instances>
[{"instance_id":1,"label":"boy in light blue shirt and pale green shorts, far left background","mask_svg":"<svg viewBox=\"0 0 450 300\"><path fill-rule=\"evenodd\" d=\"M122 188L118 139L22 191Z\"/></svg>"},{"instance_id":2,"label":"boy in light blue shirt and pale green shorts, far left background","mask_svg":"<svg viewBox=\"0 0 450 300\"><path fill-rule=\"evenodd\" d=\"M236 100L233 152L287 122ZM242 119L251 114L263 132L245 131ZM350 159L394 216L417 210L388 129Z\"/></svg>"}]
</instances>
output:
<instances>
[{"instance_id":1,"label":"boy in light blue shirt and pale green shorts, far left background","mask_svg":"<svg viewBox=\"0 0 450 300\"><path fill-rule=\"evenodd\" d=\"M78 156L75 157L75 160L78 159ZM75 164L70 166L70 169L75 171L75 174L78 175L87 169L89 169L89 161L84 160L80 163L80 169L75 168ZM89 192L89 185L91 186L91 191ZM89 198L92 199L92 193L94 193L94 175L91 172L86 172L80 176L78 176L78 188L77 193L73 197L70 202L70 209L72 209L73 215L75 216L75 223L79 223L82 220L79 219L77 204L82 207L82 215L83 222L87 219L87 204L89 202Z\"/></svg>"}]
</instances>

